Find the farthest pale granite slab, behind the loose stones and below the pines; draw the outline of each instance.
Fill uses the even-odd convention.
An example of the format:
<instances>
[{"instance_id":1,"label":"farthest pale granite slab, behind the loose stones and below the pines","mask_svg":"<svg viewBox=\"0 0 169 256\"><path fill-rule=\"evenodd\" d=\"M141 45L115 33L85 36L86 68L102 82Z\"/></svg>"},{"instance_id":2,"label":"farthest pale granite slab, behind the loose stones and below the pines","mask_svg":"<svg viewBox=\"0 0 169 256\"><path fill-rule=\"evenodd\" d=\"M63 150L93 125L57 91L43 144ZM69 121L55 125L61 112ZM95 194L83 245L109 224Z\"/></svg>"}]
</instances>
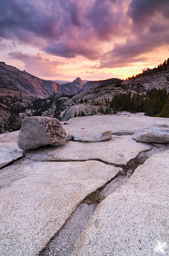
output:
<instances>
[{"instance_id":1,"label":"farthest pale granite slab, behind the loose stones and below the pines","mask_svg":"<svg viewBox=\"0 0 169 256\"><path fill-rule=\"evenodd\" d=\"M62 122L63 123L63 122ZM67 134L83 128L87 131L111 131L113 135L132 135L139 128L154 124L169 124L168 118L145 116L144 113L122 112L117 115L93 115L71 118L63 125Z\"/></svg>"}]
</instances>

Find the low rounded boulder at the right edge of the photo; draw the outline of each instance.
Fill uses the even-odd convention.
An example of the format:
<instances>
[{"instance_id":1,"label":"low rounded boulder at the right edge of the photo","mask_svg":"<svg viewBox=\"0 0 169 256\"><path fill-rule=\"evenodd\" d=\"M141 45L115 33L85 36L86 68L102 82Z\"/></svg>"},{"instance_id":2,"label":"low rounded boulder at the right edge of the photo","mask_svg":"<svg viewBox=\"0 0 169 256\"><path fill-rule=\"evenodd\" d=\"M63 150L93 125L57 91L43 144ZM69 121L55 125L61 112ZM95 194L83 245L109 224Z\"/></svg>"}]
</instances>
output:
<instances>
[{"instance_id":1,"label":"low rounded boulder at the right edge of the photo","mask_svg":"<svg viewBox=\"0 0 169 256\"><path fill-rule=\"evenodd\" d=\"M141 142L169 143L169 125L152 125L140 128L133 134L135 140Z\"/></svg>"}]
</instances>

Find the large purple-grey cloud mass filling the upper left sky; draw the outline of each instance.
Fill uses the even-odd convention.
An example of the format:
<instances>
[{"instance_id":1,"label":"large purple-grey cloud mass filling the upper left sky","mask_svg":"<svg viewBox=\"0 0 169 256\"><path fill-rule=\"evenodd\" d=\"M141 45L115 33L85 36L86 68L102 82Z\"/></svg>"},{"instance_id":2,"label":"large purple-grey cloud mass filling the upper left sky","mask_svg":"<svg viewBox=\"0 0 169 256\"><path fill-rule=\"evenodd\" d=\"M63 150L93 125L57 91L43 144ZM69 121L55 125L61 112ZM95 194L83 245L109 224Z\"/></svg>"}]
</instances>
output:
<instances>
[{"instance_id":1,"label":"large purple-grey cloud mass filling the upper left sky","mask_svg":"<svg viewBox=\"0 0 169 256\"><path fill-rule=\"evenodd\" d=\"M117 3L1 0L0 37L38 46L56 56L98 59L102 54L99 41L123 31L124 14Z\"/></svg>"}]
</instances>

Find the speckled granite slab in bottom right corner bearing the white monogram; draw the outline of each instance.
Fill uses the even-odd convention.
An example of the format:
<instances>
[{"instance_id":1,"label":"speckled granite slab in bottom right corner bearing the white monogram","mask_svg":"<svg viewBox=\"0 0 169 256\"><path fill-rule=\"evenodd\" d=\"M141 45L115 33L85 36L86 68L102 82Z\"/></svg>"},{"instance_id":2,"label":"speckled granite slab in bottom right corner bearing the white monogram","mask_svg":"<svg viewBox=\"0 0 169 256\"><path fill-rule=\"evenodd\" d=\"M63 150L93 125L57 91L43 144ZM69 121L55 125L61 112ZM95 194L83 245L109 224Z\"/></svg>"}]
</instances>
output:
<instances>
[{"instance_id":1,"label":"speckled granite slab in bottom right corner bearing the white monogram","mask_svg":"<svg viewBox=\"0 0 169 256\"><path fill-rule=\"evenodd\" d=\"M168 166L169 150L138 166L97 206L71 256L169 255Z\"/></svg>"}]
</instances>

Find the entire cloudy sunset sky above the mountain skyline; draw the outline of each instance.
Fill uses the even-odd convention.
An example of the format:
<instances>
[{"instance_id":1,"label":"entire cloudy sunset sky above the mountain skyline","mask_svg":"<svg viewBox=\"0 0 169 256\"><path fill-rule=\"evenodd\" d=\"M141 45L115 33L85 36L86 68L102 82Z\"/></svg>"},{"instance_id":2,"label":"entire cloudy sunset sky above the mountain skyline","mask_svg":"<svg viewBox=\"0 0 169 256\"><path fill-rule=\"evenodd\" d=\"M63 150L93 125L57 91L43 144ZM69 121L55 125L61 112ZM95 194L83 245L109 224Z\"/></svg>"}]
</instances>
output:
<instances>
[{"instance_id":1,"label":"entire cloudy sunset sky above the mountain skyline","mask_svg":"<svg viewBox=\"0 0 169 256\"><path fill-rule=\"evenodd\" d=\"M125 79L169 57L169 0L0 0L0 61L48 80Z\"/></svg>"}]
</instances>

